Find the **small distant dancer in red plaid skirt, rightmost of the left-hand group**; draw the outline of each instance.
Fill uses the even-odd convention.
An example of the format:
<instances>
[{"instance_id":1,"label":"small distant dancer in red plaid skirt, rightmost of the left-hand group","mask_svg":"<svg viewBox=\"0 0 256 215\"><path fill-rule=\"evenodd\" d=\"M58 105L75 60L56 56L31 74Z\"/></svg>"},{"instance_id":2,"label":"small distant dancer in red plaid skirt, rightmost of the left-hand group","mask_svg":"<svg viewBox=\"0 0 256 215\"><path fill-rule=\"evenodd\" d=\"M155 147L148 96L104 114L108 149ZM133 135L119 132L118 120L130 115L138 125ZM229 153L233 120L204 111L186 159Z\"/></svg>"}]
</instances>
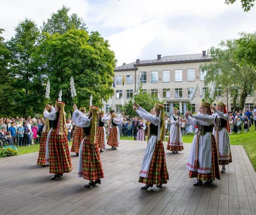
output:
<instances>
[{"instance_id":1,"label":"small distant dancer in red plaid skirt, rightmost of the left-hand group","mask_svg":"<svg viewBox=\"0 0 256 215\"><path fill-rule=\"evenodd\" d=\"M111 129L108 136L108 145L111 146L111 149L116 150L120 143L120 133L118 124L123 122L122 116L124 115L124 111L117 117L116 113L111 114Z\"/></svg>"}]
</instances>

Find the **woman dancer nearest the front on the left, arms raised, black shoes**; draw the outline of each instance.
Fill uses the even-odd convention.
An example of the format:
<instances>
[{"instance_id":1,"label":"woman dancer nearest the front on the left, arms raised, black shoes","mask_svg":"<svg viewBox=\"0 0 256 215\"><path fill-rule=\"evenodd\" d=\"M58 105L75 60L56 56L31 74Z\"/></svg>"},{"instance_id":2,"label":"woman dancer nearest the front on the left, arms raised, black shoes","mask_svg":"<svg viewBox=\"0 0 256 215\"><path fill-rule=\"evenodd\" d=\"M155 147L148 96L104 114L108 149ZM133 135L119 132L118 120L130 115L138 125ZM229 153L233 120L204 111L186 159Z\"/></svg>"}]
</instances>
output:
<instances>
[{"instance_id":1,"label":"woman dancer nearest the front on the left, arms raised, black shoes","mask_svg":"<svg viewBox=\"0 0 256 215\"><path fill-rule=\"evenodd\" d=\"M89 184L85 184L84 187L94 187L95 184L101 183L100 178L104 178L99 147L96 140L98 107L90 107L89 117L84 116L81 111L77 110L75 104L73 108L73 121L75 125L83 127L84 132L84 139L79 149L77 176L89 180Z\"/></svg>"}]
</instances>

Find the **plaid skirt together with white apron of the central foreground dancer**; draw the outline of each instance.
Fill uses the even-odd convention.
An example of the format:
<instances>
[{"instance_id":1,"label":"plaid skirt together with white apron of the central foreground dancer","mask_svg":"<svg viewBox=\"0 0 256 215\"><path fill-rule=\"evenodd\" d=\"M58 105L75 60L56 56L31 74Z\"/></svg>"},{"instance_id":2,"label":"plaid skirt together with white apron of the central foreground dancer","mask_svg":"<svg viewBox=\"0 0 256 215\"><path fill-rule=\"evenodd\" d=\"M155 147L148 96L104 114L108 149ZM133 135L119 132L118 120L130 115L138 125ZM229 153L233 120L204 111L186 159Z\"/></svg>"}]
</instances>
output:
<instances>
[{"instance_id":1,"label":"plaid skirt together with white apron of the central foreground dancer","mask_svg":"<svg viewBox=\"0 0 256 215\"><path fill-rule=\"evenodd\" d=\"M157 141L156 140L157 137L156 136L150 136L146 150L145 150L145 154L144 154L144 158L143 158L143 163L141 166L141 171L140 171L140 175L144 174L143 171L143 166L144 166L144 161L150 162L149 168L148 170L146 170L146 174L145 177L140 176L139 177L139 182L140 183L144 183L144 184L166 184L167 180L169 180L169 174L167 171L167 167L166 167L166 161L165 161L165 152L164 152L164 145L162 141ZM148 152L150 152L152 149L152 147L154 146L155 143L155 149L153 152L153 156L149 159L145 159L145 157L149 157L148 156Z\"/></svg>"}]
</instances>

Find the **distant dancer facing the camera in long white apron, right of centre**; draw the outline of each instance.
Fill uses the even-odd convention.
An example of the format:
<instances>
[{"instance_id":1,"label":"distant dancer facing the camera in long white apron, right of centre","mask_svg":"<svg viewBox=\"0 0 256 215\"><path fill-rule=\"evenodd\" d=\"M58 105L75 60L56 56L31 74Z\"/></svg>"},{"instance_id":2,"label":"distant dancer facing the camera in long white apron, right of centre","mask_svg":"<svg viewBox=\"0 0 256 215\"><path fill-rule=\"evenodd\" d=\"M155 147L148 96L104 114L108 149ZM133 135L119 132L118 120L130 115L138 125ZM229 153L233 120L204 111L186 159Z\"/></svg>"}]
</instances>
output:
<instances>
[{"instance_id":1,"label":"distant dancer facing the camera in long white apron, right of centre","mask_svg":"<svg viewBox=\"0 0 256 215\"><path fill-rule=\"evenodd\" d=\"M167 150L172 151L172 153L174 154L177 154L179 153L178 151L182 151L184 149L180 121L182 122L182 119L180 119L180 117L178 116L178 109L177 107L174 107L173 115L171 115L172 125L170 128L170 135L167 143Z\"/></svg>"}]
</instances>

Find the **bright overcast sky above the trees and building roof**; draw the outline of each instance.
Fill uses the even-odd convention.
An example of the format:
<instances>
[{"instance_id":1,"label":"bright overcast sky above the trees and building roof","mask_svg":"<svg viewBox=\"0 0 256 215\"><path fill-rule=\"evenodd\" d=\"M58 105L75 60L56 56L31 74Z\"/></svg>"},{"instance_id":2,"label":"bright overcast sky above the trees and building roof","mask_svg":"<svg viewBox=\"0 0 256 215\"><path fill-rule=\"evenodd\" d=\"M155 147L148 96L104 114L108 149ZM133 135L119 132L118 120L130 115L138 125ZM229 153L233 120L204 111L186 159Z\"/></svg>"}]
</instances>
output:
<instances>
[{"instance_id":1,"label":"bright overcast sky above the trees and building roof","mask_svg":"<svg viewBox=\"0 0 256 215\"><path fill-rule=\"evenodd\" d=\"M25 17L43 21L62 5L85 21L89 31L109 40L117 66L157 54L201 53L221 40L254 32L256 6L249 12L225 0L1 0L0 28L10 39Z\"/></svg>"}]
</instances>

